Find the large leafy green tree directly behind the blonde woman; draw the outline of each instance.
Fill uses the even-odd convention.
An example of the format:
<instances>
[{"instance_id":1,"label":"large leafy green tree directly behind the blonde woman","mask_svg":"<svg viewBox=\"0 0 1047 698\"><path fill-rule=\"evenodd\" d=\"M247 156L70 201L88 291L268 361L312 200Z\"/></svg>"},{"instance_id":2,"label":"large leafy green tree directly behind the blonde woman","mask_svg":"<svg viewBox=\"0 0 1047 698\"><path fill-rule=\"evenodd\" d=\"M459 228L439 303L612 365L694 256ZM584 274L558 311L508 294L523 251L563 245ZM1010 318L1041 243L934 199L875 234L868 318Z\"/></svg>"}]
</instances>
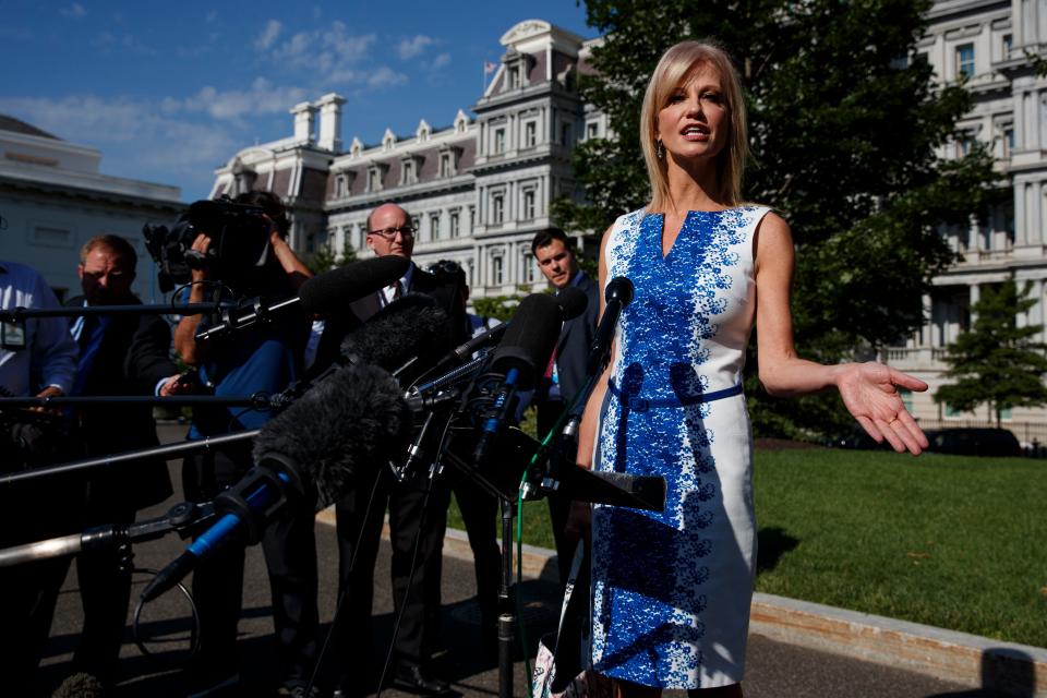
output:
<instances>
[{"instance_id":1,"label":"large leafy green tree directly behind the blonde woman","mask_svg":"<svg viewBox=\"0 0 1047 698\"><path fill-rule=\"evenodd\" d=\"M575 151L585 205L556 202L562 227L601 234L650 198L638 140L648 77L669 45L714 37L735 59L749 110L745 196L774 207L797 248L794 324L799 351L835 362L875 350L923 322L919 298L955 261L941 226L970 225L994 190L978 148L944 160L972 103L936 85L916 56L929 0L590 0L605 39L583 97L616 137ZM755 353L750 350L750 353ZM749 366L756 362L750 357ZM834 396L774 400L748 378L757 433L797 436L847 419Z\"/></svg>"}]
</instances>

